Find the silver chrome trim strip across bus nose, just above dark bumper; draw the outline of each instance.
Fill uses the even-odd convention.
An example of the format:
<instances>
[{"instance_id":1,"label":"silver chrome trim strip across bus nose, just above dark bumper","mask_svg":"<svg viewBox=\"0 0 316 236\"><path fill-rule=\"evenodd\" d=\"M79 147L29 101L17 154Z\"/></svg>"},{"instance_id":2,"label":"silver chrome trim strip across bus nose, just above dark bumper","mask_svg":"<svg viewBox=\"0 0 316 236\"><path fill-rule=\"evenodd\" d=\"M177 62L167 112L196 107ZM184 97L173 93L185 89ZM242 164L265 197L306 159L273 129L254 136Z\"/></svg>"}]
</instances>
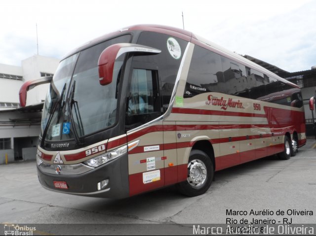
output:
<instances>
[{"instance_id":1,"label":"silver chrome trim strip across bus nose, just above dark bumper","mask_svg":"<svg viewBox=\"0 0 316 236\"><path fill-rule=\"evenodd\" d=\"M51 165L47 163L41 163L39 168L41 171L49 174L56 174L56 167L59 166L61 168L60 170L60 175L78 175L78 174L83 174L85 172L88 172L92 169L93 167L89 167L86 165L83 165L82 163L79 164L74 164L74 165ZM58 174L59 175L59 174Z\"/></svg>"}]
</instances>

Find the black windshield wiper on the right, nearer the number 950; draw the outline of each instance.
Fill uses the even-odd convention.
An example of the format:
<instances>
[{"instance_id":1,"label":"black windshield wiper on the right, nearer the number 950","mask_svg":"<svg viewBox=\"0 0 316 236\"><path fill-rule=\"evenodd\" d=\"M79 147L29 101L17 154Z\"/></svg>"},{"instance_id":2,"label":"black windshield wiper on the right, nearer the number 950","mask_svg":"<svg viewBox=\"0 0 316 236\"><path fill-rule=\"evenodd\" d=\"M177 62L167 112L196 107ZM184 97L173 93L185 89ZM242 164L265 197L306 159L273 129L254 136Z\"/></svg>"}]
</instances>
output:
<instances>
[{"instance_id":1,"label":"black windshield wiper on the right, nearer the number 950","mask_svg":"<svg viewBox=\"0 0 316 236\"><path fill-rule=\"evenodd\" d=\"M72 88L71 88L70 96L67 99L68 112L69 112L69 118L70 118L71 127L72 127L72 130L73 130L73 134L75 136L77 145L83 145L84 143L80 140L80 137L84 135L84 130L83 130L83 124L82 124L82 120L81 120L81 116L80 116L78 102L74 100L75 87L76 87L76 81L74 81L74 83L72 85ZM73 116L73 111L72 111L73 104L75 104L75 103L77 104L77 107L75 105L75 113L76 113L76 118L77 118L77 121L78 121L80 137L79 137L78 132L76 130L76 124L75 124L75 121L74 121L74 116Z\"/></svg>"}]
</instances>

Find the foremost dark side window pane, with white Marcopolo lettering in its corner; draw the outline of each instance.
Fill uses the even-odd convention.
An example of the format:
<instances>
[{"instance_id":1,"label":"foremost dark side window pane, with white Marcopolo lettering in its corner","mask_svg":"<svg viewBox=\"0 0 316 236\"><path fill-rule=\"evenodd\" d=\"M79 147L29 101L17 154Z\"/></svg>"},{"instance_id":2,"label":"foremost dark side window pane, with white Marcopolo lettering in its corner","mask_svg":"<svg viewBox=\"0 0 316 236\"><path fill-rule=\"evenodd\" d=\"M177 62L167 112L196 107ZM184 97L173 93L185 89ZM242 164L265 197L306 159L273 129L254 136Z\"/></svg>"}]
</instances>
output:
<instances>
[{"instance_id":1,"label":"foremost dark side window pane, with white Marcopolo lettering in its corner","mask_svg":"<svg viewBox=\"0 0 316 236\"><path fill-rule=\"evenodd\" d=\"M196 45L183 97L190 98L207 92L221 93L224 88L221 56Z\"/></svg>"}]
</instances>

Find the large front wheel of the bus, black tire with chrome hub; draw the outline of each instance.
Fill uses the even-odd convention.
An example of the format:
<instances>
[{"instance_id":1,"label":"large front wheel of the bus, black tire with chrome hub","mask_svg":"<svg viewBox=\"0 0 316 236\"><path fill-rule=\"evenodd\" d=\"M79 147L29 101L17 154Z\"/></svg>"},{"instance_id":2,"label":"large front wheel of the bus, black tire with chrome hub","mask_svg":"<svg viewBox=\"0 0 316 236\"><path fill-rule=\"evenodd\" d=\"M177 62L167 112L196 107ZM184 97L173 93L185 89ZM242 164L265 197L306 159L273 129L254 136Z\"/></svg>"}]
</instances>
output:
<instances>
[{"instance_id":1,"label":"large front wheel of the bus, black tire with chrome hub","mask_svg":"<svg viewBox=\"0 0 316 236\"><path fill-rule=\"evenodd\" d=\"M195 197L205 193L214 177L213 163L203 151L192 150L188 163L188 177L186 181L177 184L183 195Z\"/></svg>"}]
</instances>

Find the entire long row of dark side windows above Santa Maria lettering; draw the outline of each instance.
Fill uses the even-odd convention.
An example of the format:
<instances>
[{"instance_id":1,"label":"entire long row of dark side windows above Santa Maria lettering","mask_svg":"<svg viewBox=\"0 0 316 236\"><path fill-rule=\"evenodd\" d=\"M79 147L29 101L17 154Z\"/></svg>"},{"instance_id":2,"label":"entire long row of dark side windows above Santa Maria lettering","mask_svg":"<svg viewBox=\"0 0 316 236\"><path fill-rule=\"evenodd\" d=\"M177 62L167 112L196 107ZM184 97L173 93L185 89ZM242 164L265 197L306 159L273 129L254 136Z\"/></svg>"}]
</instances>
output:
<instances>
[{"instance_id":1,"label":"entire long row of dark side windows above Santa Maria lettering","mask_svg":"<svg viewBox=\"0 0 316 236\"><path fill-rule=\"evenodd\" d=\"M299 89L196 45L184 98L208 92L295 107L303 105Z\"/></svg>"}]
</instances>

